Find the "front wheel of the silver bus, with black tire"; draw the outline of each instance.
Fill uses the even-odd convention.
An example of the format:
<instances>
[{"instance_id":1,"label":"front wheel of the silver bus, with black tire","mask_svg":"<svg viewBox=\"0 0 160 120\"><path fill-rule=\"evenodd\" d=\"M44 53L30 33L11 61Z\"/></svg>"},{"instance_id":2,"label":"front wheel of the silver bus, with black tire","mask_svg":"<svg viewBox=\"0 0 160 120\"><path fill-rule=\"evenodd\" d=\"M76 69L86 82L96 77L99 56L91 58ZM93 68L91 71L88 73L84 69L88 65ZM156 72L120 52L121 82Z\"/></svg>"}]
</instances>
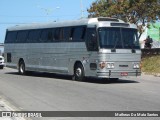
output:
<instances>
[{"instance_id":1,"label":"front wheel of the silver bus, with black tire","mask_svg":"<svg viewBox=\"0 0 160 120\"><path fill-rule=\"evenodd\" d=\"M74 79L76 81L84 81L85 80L84 68L81 63L77 63L74 67Z\"/></svg>"}]
</instances>

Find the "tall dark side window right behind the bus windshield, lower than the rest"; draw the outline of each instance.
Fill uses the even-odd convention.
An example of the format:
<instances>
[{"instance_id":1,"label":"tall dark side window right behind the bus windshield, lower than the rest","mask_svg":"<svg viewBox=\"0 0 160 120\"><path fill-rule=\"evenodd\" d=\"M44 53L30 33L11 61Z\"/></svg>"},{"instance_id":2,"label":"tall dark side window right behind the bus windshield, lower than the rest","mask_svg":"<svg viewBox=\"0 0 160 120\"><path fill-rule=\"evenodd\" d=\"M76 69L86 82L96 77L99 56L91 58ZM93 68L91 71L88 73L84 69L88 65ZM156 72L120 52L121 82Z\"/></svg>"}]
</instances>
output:
<instances>
[{"instance_id":1,"label":"tall dark side window right behind the bus windshield, lower than the rest","mask_svg":"<svg viewBox=\"0 0 160 120\"><path fill-rule=\"evenodd\" d=\"M88 51L98 50L96 28L87 29L87 49Z\"/></svg>"}]
</instances>

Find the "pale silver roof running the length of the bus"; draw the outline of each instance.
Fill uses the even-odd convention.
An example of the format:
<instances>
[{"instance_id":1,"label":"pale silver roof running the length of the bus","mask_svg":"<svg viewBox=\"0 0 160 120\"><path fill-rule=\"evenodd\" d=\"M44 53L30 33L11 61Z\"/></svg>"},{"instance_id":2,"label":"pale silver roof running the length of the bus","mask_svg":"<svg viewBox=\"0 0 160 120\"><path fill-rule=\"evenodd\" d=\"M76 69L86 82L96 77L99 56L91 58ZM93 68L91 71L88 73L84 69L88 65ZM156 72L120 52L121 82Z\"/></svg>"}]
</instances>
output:
<instances>
[{"instance_id":1,"label":"pale silver roof running the length of the bus","mask_svg":"<svg viewBox=\"0 0 160 120\"><path fill-rule=\"evenodd\" d=\"M32 23L32 24L26 24L26 25L16 25L14 27L9 27L7 31L67 27L67 26L82 26L82 25L86 25L86 26L87 25L98 25L99 22L107 22L108 24L125 23L124 21L116 19L116 18L98 17L98 18L84 18L84 19L79 19L79 20L63 21L63 22Z\"/></svg>"}]
</instances>

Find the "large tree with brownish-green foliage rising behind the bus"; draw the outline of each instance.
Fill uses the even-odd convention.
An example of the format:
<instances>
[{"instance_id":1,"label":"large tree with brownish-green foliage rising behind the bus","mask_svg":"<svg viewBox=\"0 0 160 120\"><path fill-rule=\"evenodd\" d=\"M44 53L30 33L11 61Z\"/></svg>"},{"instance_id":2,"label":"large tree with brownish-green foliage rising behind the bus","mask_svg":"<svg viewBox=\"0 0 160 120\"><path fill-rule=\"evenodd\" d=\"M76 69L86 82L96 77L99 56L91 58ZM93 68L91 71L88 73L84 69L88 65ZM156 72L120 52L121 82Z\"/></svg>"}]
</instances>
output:
<instances>
[{"instance_id":1,"label":"large tree with brownish-green foliage rising behind the bus","mask_svg":"<svg viewBox=\"0 0 160 120\"><path fill-rule=\"evenodd\" d=\"M87 11L88 17L117 17L136 24L141 36L149 23L160 19L160 0L96 0Z\"/></svg>"}]
</instances>

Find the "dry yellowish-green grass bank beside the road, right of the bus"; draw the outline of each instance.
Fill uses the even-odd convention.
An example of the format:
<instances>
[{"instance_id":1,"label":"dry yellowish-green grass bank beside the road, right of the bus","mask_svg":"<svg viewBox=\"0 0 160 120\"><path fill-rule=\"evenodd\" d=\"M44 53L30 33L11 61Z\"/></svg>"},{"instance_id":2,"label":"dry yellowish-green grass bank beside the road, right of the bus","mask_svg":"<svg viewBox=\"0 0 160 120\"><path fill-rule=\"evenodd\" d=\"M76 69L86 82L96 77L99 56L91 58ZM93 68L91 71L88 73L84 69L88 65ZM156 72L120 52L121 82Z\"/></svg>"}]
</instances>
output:
<instances>
[{"instance_id":1,"label":"dry yellowish-green grass bank beside the road, right of the bus","mask_svg":"<svg viewBox=\"0 0 160 120\"><path fill-rule=\"evenodd\" d=\"M160 73L160 55L143 58L142 72Z\"/></svg>"}]
</instances>

